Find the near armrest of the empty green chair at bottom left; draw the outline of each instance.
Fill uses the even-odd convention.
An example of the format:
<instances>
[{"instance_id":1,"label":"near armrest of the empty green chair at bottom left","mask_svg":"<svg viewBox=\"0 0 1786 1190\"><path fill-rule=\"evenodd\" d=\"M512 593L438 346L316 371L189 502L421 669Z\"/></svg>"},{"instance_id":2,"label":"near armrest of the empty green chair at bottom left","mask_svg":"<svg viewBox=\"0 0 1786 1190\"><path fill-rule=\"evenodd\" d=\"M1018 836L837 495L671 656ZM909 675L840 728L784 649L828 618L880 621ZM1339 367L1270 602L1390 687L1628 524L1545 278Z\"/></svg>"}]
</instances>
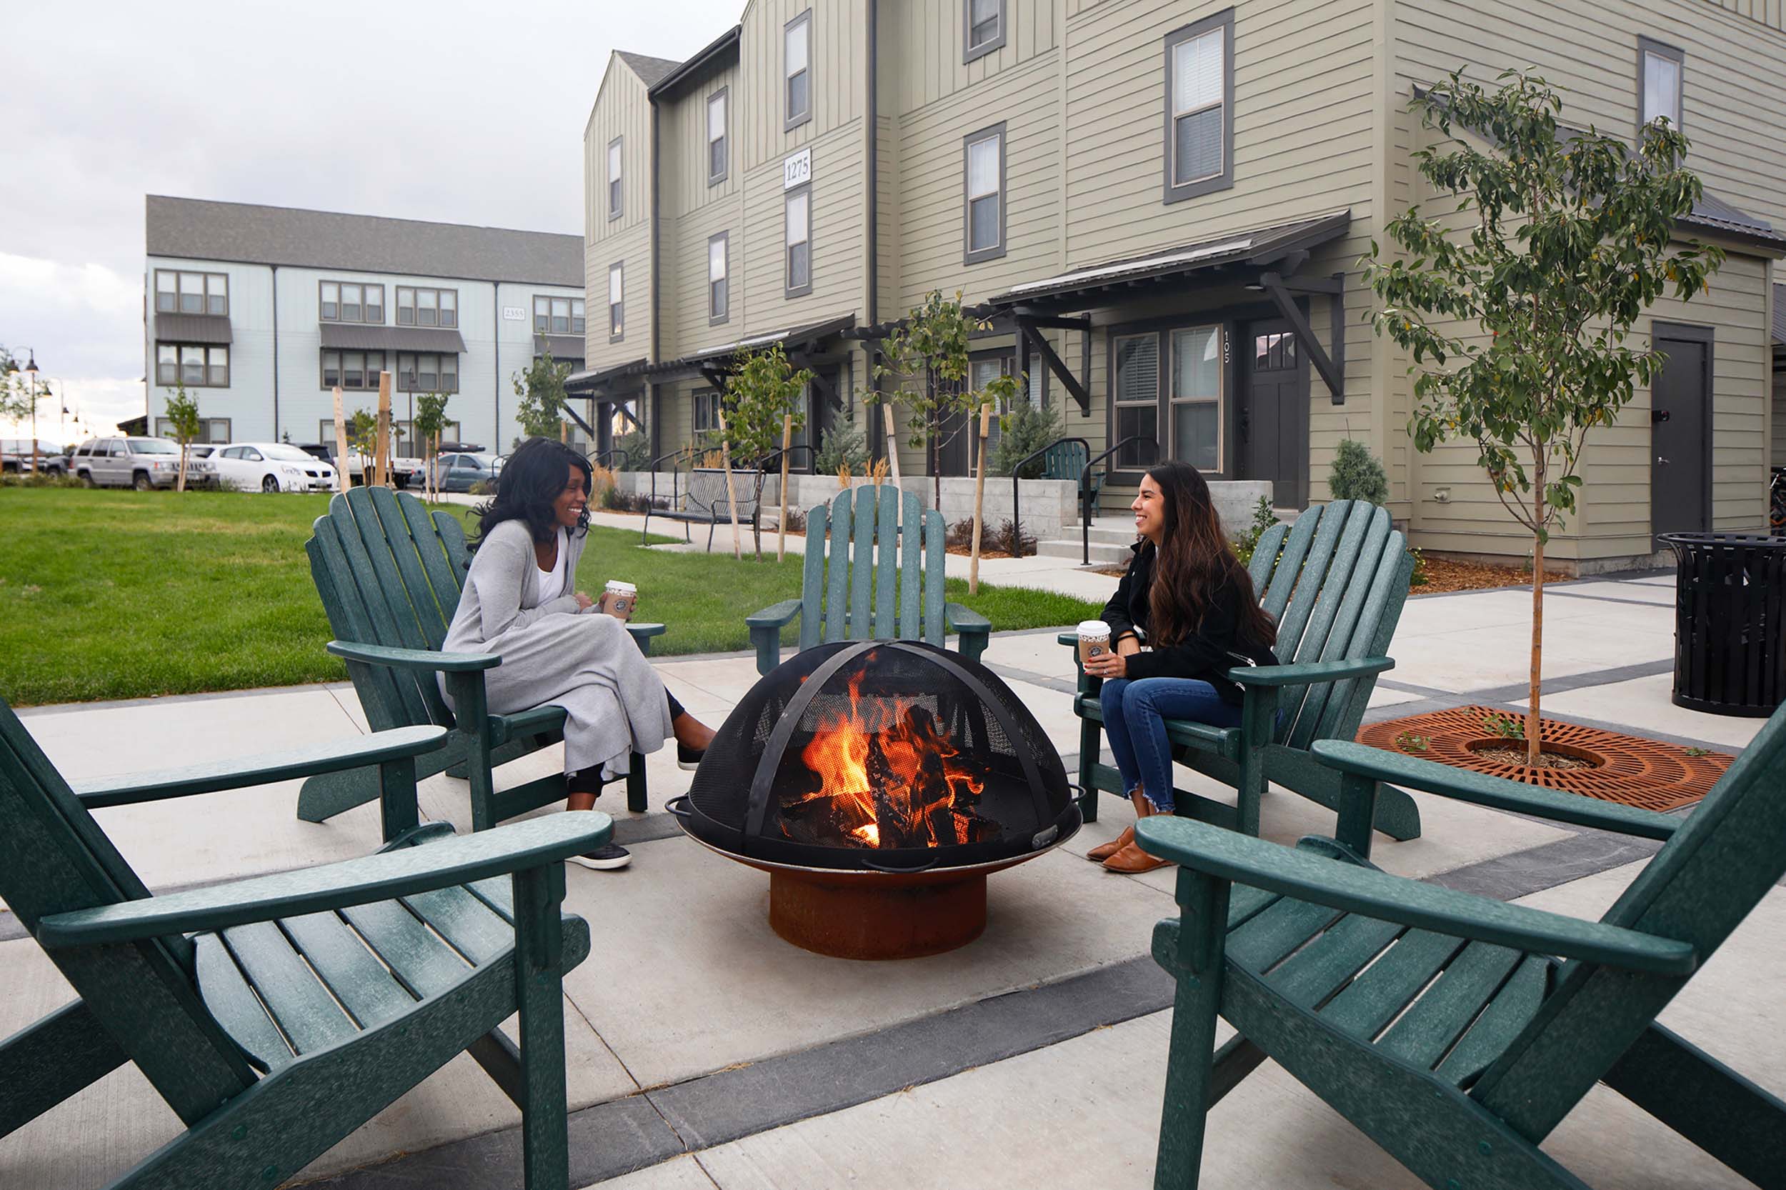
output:
<instances>
[{"instance_id":1,"label":"near armrest of the empty green chair at bottom left","mask_svg":"<svg viewBox=\"0 0 1786 1190\"><path fill-rule=\"evenodd\" d=\"M564 811L300 872L55 913L38 922L38 940L50 949L91 947L346 909L561 863L600 847L613 829L604 813Z\"/></svg>"}]
</instances>

